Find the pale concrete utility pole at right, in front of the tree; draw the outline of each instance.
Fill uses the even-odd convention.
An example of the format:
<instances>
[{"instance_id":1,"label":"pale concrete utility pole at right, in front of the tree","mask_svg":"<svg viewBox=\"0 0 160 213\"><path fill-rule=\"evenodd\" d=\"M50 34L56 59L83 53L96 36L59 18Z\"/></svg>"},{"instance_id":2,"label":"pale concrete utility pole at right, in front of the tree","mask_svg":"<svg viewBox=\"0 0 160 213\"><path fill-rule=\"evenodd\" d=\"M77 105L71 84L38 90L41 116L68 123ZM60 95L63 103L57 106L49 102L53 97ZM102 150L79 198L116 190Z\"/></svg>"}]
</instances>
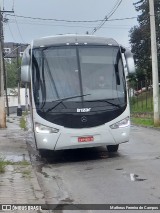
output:
<instances>
[{"instance_id":1,"label":"pale concrete utility pole at right, in front of the tree","mask_svg":"<svg viewBox=\"0 0 160 213\"><path fill-rule=\"evenodd\" d=\"M160 98L159 98L159 85L158 85L159 80L158 80L158 59L157 59L154 0L149 0L149 10L150 10L150 31L151 31L154 125L159 126L160 125Z\"/></svg>"}]
</instances>

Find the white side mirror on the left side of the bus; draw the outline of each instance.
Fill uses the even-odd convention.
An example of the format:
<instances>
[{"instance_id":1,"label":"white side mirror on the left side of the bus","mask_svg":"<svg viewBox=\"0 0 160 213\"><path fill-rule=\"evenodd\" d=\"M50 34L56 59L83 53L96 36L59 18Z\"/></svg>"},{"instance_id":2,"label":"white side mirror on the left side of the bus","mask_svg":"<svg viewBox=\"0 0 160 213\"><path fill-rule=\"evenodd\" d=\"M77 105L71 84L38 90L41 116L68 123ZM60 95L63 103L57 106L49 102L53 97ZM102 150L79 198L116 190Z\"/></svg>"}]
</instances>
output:
<instances>
[{"instance_id":1,"label":"white side mirror on the left side of the bus","mask_svg":"<svg viewBox=\"0 0 160 213\"><path fill-rule=\"evenodd\" d=\"M30 46L28 46L22 57L22 65L21 65L21 81L24 83L30 83Z\"/></svg>"}]
</instances>

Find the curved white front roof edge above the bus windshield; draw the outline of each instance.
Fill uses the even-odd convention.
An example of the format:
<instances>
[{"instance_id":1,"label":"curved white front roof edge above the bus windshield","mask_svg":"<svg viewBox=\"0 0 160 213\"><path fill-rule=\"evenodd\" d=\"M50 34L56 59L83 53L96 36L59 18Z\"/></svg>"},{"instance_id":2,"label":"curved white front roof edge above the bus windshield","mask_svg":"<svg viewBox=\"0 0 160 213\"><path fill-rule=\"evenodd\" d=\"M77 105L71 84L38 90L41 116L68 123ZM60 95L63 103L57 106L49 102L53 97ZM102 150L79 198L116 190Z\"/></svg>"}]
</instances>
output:
<instances>
[{"instance_id":1,"label":"curved white front roof edge above the bus windshield","mask_svg":"<svg viewBox=\"0 0 160 213\"><path fill-rule=\"evenodd\" d=\"M51 45L75 45L75 44L96 44L96 45L113 45L119 44L112 38L98 37L94 35L56 35L43 37L33 40L32 47L45 47Z\"/></svg>"}]
</instances>

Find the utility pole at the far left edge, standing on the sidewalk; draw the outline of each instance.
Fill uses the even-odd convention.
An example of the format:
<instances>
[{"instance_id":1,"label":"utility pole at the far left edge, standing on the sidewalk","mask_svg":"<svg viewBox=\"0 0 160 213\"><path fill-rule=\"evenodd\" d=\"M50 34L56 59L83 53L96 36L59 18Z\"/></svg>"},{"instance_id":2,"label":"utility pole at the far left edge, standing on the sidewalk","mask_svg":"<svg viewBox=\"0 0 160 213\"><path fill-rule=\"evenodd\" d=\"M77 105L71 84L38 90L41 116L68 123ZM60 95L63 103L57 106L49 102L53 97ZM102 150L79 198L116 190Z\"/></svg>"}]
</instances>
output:
<instances>
[{"instance_id":1,"label":"utility pole at the far left edge, standing on the sidewalk","mask_svg":"<svg viewBox=\"0 0 160 213\"><path fill-rule=\"evenodd\" d=\"M0 128L6 128L6 112L4 102L4 65L3 65L3 16L0 5Z\"/></svg>"}]
</instances>

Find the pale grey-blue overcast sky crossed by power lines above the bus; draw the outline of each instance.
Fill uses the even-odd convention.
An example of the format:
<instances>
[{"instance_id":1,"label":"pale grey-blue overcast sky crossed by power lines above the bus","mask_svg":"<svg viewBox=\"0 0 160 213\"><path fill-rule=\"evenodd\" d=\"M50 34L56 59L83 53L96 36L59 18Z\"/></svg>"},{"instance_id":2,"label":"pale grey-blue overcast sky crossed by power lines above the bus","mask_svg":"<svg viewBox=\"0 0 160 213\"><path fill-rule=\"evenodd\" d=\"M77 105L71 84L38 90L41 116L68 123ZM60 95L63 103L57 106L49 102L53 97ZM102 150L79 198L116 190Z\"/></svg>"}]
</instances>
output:
<instances>
[{"instance_id":1,"label":"pale grey-blue overcast sky crossed by power lines above the bus","mask_svg":"<svg viewBox=\"0 0 160 213\"><path fill-rule=\"evenodd\" d=\"M1 0L8 21L4 24L4 41L30 43L33 39L57 34L85 34L102 22L60 22L20 18L38 17L70 21L103 20L120 0ZM122 0L110 19L137 17L133 3L138 0ZM14 16L16 15L16 17ZM94 35L114 38L129 47L129 30L137 25L137 18L121 21L107 21Z\"/></svg>"}]
</instances>

